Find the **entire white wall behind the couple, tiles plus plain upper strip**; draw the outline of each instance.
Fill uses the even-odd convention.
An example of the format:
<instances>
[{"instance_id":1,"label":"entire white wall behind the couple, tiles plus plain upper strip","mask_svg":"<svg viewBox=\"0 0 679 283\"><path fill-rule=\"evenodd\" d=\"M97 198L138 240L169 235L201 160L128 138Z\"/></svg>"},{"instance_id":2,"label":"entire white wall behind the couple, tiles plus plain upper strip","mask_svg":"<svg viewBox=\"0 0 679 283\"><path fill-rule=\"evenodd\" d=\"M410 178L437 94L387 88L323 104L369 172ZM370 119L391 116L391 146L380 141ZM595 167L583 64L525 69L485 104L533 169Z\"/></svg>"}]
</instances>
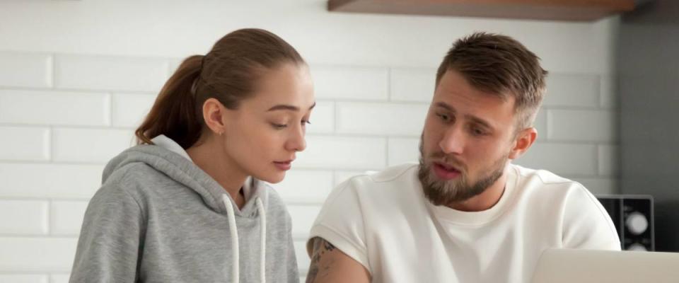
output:
<instances>
[{"instance_id":1,"label":"entire white wall behind the couple, tiles plus plain upper strip","mask_svg":"<svg viewBox=\"0 0 679 283\"><path fill-rule=\"evenodd\" d=\"M15 27L0 29L0 282L68 282L106 161L132 144L132 131L183 57L204 54L219 35L244 26L281 35L311 65L318 105L308 148L274 185L294 219L302 277L306 235L332 187L417 161L436 68L452 40L473 30L519 38L550 71L538 143L517 163L593 192L617 192L617 96L606 40L615 19L358 15L328 13L325 0L270 4L294 17L248 1L181 0L161 10L143 1L132 10L118 1L31 2L0 1L0 26ZM214 16L187 28L175 19L189 10Z\"/></svg>"}]
</instances>

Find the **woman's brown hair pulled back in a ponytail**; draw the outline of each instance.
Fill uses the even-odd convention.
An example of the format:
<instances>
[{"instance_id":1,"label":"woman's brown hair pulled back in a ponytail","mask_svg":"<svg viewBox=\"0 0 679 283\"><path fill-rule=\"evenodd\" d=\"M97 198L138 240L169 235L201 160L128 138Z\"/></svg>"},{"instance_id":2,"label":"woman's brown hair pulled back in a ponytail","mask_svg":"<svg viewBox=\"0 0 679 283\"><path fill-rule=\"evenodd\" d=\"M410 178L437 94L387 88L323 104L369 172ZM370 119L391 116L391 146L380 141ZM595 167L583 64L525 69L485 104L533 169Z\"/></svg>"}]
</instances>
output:
<instances>
[{"instance_id":1,"label":"woman's brown hair pulled back in a ponytail","mask_svg":"<svg viewBox=\"0 0 679 283\"><path fill-rule=\"evenodd\" d=\"M246 28L221 37L210 52L188 57L170 76L134 132L137 144L153 144L153 137L164 134L188 149L201 137L205 100L216 98L237 109L265 71L284 63L306 64L294 47L267 30Z\"/></svg>"}]
</instances>

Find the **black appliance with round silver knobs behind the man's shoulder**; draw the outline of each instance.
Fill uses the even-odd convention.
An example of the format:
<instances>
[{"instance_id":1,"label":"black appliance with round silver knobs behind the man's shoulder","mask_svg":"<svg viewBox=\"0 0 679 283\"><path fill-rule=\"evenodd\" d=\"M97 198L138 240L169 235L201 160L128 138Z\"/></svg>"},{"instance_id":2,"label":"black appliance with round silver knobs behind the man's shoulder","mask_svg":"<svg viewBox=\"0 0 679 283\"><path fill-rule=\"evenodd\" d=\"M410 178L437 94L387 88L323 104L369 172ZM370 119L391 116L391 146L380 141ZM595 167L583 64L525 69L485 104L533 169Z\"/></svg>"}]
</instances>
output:
<instances>
[{"instance_id":1,"label":"black appliance with round silver knobs behind the man's shoulder","mask_svg":"<svg viewBox=\"0 0 679 283\"><path fill-rule=\"evenodd\" d=\"M598 195L613 219L622 250L656 250L653 197L650 195Z\"/></svg>"}]
</instances>

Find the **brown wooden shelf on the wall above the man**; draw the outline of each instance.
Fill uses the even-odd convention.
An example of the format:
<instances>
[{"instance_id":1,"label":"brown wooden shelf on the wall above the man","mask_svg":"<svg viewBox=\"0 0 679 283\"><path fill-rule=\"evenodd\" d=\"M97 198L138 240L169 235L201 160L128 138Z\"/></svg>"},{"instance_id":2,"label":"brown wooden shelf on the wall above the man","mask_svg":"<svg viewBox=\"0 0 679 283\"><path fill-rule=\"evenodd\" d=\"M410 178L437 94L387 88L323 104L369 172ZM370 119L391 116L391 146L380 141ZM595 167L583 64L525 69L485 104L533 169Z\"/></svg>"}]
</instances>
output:
<instances>
[{"instance_id":1,"label":"brown wooden shelf on the wall above the man","mask_svg":"<svg viewBox=\"0 0 679 283\"><path fill-rule=\"evenodd\" d=\"M634 10L634 0L328 0L328 11L596 21Z\"/></svg>"}]
</instances>

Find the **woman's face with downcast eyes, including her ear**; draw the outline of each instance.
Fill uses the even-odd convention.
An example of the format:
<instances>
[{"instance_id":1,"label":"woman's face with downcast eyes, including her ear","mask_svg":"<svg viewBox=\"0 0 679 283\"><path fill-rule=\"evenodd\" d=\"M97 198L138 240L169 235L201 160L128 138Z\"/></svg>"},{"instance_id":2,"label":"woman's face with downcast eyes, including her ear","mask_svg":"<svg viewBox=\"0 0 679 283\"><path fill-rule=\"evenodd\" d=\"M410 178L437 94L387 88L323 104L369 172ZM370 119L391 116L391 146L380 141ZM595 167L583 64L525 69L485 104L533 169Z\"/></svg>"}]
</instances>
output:
<instances>
[{"instance_id":1,"label":"woman's face with downcast eyes, including her ear","mask_svg":"<svg viewBox=\"0 0 679 283\"><path fill-rule=\"evenodd\" d=\"M305 64L284 64L266 71L252 97L224 119L225 151L245 175L279 183L297 151L315 106L313 83Z\"/></svg>"}]
</instances>

